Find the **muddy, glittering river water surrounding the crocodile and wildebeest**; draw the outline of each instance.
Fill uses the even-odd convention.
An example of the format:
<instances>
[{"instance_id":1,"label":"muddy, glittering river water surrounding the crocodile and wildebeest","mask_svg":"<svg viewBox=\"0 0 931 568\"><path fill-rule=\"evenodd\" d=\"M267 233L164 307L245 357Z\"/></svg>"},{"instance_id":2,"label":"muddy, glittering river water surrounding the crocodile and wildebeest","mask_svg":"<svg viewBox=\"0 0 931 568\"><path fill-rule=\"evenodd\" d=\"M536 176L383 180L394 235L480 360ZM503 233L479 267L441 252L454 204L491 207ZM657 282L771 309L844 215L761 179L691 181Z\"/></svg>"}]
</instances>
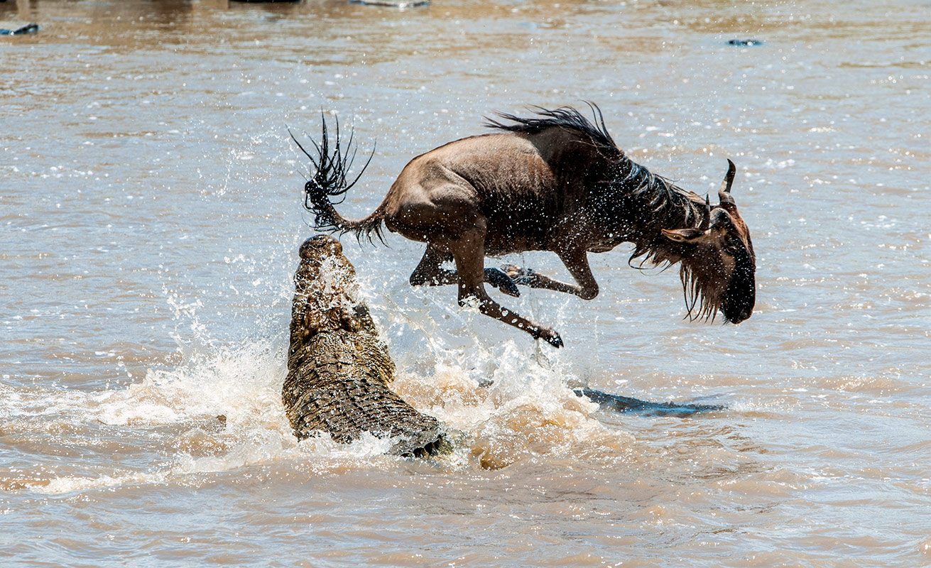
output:
<instances>
[{"instance_id":1,"label":"muddy, glittering river water surrounding the crocodile and wildebeest","mask_svg":"<svg viewBox=\"0 0 931 568\"><path fill-rule=\"evenodd\" d=\"M3 565L931 562L931 5L672 0L0 4ZM727 45L757 38L762 46ZM434 461L296 443L279 399L307 164L352 124L371 211L482 115L600 104L699 193L735 160L757 309L683 321L675 270L503 303L555 350L346 239ZM554 275L550 254L506 259ZM724 404L600 411L624 396ZM225 426L216 416L226 417Z\"/></svg>"}]
</instances>

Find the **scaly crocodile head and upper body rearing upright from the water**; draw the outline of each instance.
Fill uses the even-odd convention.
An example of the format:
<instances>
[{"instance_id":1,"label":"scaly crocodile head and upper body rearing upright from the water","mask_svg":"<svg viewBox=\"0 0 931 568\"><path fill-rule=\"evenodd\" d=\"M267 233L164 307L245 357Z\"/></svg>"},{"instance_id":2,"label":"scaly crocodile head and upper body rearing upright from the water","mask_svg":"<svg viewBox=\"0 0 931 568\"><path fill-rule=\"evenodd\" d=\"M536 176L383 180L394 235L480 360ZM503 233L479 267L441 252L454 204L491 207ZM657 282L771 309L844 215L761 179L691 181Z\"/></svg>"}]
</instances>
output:
<instances>
[{"instance_id":1,"label":"scaly crocodile head and upper body rearing upright from the water","mask_svg":"<svg viewBox=\"0 0 931 568\"><path fill-rule=\"evenodd\" d=\"M281 399L299 439L317 431L348 443L363 432L397 440L390 453L448 446L439 422L392 392L395 364L359 301L356 269L338 240L308 238L294 275L288 376Z\"/></svg>"}]
</instances>

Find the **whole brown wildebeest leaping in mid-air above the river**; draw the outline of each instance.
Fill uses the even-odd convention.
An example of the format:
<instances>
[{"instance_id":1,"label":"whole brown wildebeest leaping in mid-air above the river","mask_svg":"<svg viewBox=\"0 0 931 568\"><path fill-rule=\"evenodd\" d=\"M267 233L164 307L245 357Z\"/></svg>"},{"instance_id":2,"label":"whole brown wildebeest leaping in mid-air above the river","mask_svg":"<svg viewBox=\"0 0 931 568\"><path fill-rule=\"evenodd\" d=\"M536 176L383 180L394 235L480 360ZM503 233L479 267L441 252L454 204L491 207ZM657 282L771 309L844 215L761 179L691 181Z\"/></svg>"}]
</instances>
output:
<instances>
[{"instance_id":1,"label":"whole brown wildebeest leaping in mid-air above the river","mask_svg":"<svg viewBox=\"0 0 931 568\"><path fill-rule=\"evenodd\" d=\"M499 114L504 122L486 118L495 133L449 142L413 158L382 204L358 221L344 219L331 202L361 175L355 181L347 177L355 156L352 136L341 144L337 123L331 146L324 119L322 142L314 142L316 156L294 141L314 167L304 185L304 207L315 213L317 230L381 238L384 225L425 242L412 285L457 284L459 304L475 303L482 314L557 347L559 333L502 307L485 291L485 282L512 296L519 295L515 284L521 284L590 300L598 295L598 284L588 252L630 242L628 264L635 259L641 265L680 263L687 318L713 319L719 310L733 323L749 318L756 259L731 196L734 163L728 160L719 204L711 207L708 196L702 199L628 158L608 133L598 106L589 106L594 122L572 107L536 107L529 118ZM555 252L576 283L514 265L484 266L486 256L525 250ZM449 261L455 271L443 268Z\"/></svg>"}]
</instances>

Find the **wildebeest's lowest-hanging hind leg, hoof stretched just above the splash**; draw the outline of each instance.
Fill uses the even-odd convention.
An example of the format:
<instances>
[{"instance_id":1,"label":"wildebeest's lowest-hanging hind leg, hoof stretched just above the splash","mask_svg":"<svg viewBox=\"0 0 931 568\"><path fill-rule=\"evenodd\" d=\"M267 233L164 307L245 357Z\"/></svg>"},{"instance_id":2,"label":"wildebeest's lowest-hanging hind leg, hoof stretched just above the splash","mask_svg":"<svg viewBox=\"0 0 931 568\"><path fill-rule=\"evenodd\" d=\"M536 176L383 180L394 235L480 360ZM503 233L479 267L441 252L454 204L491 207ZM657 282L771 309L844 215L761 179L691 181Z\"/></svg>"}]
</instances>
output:
<instances>
[{"instance_id":1,"label":"wildebeest's lowest-hanging hind leg, hoof stretched just above the splash","mask_svg":"<svg viewBox=\"0 0 931 568\"><path fill-rule=\"evenodd\" d=\"M544 339L549 345L562 346L560 334L533 321L520 317L517 313L502 307L492 300L485 291L484 235L478 231L460 238L451 244L452 257L459 272L459 305L471 301L478 302L479 311L492 318L504 321L507 325L527 331L534 339ZM474 298L474 300L473 300Z\"/></svg>"}]
</instances>

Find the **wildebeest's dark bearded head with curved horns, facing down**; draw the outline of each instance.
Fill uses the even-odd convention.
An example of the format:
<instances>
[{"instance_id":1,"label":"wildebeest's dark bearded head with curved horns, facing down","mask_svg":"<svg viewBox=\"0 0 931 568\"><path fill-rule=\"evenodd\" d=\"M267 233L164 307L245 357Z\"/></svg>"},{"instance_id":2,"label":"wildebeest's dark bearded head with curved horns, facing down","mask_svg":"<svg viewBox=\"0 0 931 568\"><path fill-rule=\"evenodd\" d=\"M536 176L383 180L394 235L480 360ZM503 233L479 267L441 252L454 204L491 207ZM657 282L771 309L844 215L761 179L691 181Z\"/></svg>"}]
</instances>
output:
<instances>
[{"instance_id":1,"label":"wildebeest's dark bearded head with curved horns, facing down","mask_svg":"<svg viewBox=\"0 0 931 568\"><path fill-rule=\"evenodd\" d=\"M663 235L679 245L688 317L713 319L720 309L728 321L740 323L756 302L756 255L731 196L734 162L727 163L719 204L712 208L706 197L707 215L698 228L663 229Z\"/></svg>"}]
</instances>

